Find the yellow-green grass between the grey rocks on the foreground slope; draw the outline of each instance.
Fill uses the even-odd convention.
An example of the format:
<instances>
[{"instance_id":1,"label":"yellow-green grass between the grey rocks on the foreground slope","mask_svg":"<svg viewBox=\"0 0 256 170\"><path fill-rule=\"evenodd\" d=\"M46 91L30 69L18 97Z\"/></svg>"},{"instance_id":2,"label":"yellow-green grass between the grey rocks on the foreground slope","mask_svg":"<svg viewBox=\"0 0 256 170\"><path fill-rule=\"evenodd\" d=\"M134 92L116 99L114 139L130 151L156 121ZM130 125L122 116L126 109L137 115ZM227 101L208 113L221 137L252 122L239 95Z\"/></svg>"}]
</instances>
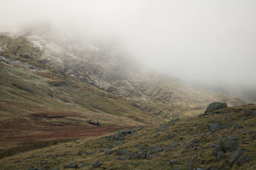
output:
<instances>
[{"instance_id":1,"label":"yellow-green grass between the grey rocks on the foreground slope","mask_svg":"<svg viewBox=\"0 0 256 170\"><path fill-rule=\"evenodd\" d=\"M81 163L88 162L93 164L96 160L103 163L102 167L107 169L173 169L168 163L168 160L175 159L177 164L175 166L186 169L189 162L195 159L194 167L225 167L228 159L234 152L225 153L223 159L220 162L216 160L214 156L214 148L210 148L209 145L218 141L218 139L225 139L228 136L236 136L243 141L240 145L241 148L246 150L244 156L251 157L252 162L247 162L243 166L238 166L236 163L233 167L227 169L253 169L256 166L256 145L255 134L256 131L256 117L246 117L245 109L251 108L256 110L255 105L250 106L237 106L233 108L227 108L219 110L220 114L205 115L204 117L194 117L190 119L181 119L179 122L173 122L170 126L161 132L156 132L156 127L145 128L135 133L133 136L125 136L125 143L122 145L114 146L111 150L114 153L106 155L104 152L99 152L100 149L108 150L107 146L114 143L114 141L106 138L90 138L79 139L68 143L60 143L58 145L49 146L40 150L33 150L30 152L20 153L13 157L4 158L0 166L3 169L28 169L28 167L58 167L60 169L68 162L77 161L79 166ZM225 120L226 117L232 118L231 122ZM244 119L246 118L246 119ZM227 129L221 129L216 132L210 132L209 122L222 122L223 124L233 123L241 125L242 129L234 130L234 125ZM163 127L163 125L160 125ZM174 138L166 140L166 137L170 134L174 134ZM205 134L202 137L202 134ZM199 140L199 146L196 148L186 148L189 141L193 138ZM100 139L100 140L99 140ZM161 147L168 147L173 142L184 143L184 145L175 146L170 152L159 152L152 159L133 159L133 160L116 160L116 151L120 148L129 150L129 152L138 152L140 146L152 146L160 145ZM134 146L138 144L138 146ZM79 150L86 152L84 155L77 155ZM90 153L96 152L96 153ZM55 154L60 155L56 161ZM44 158L45 155L49 155L49 158ZM124 157L124 156L121 156ZM19 163L13 163L14 160L20 160ZM38 165L39 160L47 161L47 164L42 166ZM140 164L139 162L143 162ZM207 162L203 164L203 162ZM85 166L84 169L90 169L92 166ZM82 168L83 169L83 168Z\"/></svg>"}]
</instances>

